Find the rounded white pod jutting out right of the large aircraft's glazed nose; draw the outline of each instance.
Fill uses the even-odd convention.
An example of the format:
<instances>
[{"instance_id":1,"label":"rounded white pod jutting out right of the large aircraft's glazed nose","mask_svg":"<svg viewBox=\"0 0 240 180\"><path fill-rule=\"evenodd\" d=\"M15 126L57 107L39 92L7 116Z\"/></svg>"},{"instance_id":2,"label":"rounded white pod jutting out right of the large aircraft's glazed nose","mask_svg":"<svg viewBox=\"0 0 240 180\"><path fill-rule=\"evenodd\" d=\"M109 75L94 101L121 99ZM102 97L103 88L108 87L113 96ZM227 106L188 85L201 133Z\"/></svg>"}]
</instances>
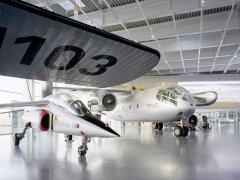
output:
<instances>
[{"instance_id":1,"label":"rounded white pod jutting out right of the large aircraft's glazed nose","mask_svg":"<svg viewBox=\"0 0 240 180\"><path fill-rule=\"evenodd\" d=\"M192 94L196 106L209 106L217 101L217 93L215 91L207 91Z\"/></svg>"}]
</instances>

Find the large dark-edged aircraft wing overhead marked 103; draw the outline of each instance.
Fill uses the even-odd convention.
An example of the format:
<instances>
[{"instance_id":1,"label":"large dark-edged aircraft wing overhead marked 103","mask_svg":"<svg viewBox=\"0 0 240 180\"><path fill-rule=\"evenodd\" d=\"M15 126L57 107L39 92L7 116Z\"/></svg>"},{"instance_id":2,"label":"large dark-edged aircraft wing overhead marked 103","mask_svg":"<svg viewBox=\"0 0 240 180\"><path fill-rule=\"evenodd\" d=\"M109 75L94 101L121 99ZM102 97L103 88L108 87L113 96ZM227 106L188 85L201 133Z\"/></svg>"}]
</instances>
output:
<instances>
[{"instance_id":1,"label":"large dark-edged aircraft wing overhead marked 103","mask_svg":"<svg viewBox=\"0 0 240 180\"><path fill-rule=\"evenodd\" d=\"M0 0L0 75L94 87L150 71L149 47L19 0Z\"/></svg>"}]
</instances>

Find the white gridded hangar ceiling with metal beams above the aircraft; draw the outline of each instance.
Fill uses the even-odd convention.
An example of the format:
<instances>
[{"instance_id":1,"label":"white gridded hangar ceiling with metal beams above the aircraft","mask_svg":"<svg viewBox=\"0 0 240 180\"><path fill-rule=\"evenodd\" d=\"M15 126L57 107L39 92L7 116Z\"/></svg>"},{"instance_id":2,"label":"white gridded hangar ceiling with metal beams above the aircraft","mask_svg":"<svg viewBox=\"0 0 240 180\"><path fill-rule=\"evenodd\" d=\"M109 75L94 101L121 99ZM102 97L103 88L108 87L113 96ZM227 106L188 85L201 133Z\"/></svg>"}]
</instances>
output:
<instances>
[{"instance_id":1,"label":"white gridded hangar ceiling with metal beams above the aircraft","mask_svg":"<svg viewBox=\"0 0 240 180\"><path fill-rule=\"evenodd\" d=\"M240 73L240 1L26 1L157 49L147 75Z\"/></svg>"}]
</instances>

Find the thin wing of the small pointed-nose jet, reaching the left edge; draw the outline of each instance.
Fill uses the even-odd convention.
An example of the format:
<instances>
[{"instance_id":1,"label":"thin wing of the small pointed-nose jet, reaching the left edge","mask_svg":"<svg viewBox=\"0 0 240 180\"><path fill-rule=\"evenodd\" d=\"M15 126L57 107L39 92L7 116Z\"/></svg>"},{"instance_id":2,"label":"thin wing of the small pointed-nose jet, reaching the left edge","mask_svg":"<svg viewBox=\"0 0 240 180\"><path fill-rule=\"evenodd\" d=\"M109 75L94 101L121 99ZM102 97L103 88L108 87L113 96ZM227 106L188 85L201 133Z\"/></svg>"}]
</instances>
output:
<instances>
[{"instance_id":1,"label":"thin wing of the small pointed-nose jet, reaching the left edge","mask_svg":"<svg viewBox=\"0 0 240 180\"><path fill-rule=\"evenodd\" d=\"M0 108L27 107L27 106L42 107L42 106L48 105L48 103L49 103L49 101L47 101L47 100L31 101L31 102L5 103L5 104L0 104Z\"/></svg>"}]
</instances>

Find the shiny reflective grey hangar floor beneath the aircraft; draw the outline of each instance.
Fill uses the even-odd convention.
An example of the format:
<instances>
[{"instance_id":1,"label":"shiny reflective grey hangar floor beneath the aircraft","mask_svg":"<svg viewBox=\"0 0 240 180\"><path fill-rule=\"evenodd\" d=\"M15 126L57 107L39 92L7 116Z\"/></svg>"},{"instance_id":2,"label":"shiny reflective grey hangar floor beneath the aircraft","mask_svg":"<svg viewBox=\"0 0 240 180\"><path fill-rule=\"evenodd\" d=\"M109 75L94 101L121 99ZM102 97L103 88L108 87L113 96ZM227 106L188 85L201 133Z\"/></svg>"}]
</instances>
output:
<instances>
[{"instance_id":1,"label":"shiny reflective grey hangar floor beneath the aircraft","mask_svg":"<svg viewBox=\"0 0 240 180\"><path fill-rule=\"evenodd\" d=\"M0 179L240 179L239 124L214 124L187 138L147 123L113 128L122 137L92 139L86 157L78 156L79 137L69 143L62 134L29 132L15 147L12 136L0 136Z\"/></svg>"}]
</instances>

